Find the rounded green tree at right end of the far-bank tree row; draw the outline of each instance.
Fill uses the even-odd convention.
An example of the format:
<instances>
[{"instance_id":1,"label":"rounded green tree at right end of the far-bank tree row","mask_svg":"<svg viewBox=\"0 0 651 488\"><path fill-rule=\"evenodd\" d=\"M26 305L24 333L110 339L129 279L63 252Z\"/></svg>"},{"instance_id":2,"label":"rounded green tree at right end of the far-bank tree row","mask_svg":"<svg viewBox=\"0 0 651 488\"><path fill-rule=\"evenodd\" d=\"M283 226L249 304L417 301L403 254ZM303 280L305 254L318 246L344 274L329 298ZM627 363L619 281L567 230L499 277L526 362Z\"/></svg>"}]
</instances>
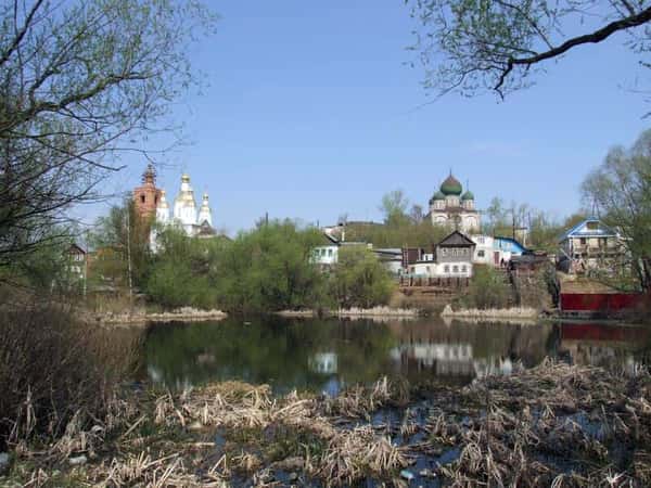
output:
<instances>
[{"instance_id":1,"label":"rounded green tree at right end of the far-bank tree row","mask_svg":"<svg viewBox=\"0 0 651 488\"><path fill-rule=\"evenodd\" d=\"M341 247L333 293L341 307L386 305L395 282L375 255L365 246Z\"/></svg>"}]
</instances>

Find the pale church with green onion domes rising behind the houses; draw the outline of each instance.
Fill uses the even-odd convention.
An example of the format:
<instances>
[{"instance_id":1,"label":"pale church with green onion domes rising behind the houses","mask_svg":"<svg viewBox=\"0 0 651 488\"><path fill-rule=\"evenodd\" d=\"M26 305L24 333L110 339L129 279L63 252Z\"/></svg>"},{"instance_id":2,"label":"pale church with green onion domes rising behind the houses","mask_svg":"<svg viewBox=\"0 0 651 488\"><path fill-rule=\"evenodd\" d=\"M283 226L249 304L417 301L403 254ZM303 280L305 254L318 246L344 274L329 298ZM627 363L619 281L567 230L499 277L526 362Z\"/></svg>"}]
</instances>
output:
<instances>
[{"instance_id":1,"label":"pale church with green onion domes rising behind the houses","mask_svg":"<svg viewBox=\"0 0 651 488\"><path fill-rule=\"evenodd\" d=\"M451 172L430 200L430 218L435 226L463 233L477 232L482 223L474 194L468 189L463 192L463 187Z\"/></svg>"}]
</instances>

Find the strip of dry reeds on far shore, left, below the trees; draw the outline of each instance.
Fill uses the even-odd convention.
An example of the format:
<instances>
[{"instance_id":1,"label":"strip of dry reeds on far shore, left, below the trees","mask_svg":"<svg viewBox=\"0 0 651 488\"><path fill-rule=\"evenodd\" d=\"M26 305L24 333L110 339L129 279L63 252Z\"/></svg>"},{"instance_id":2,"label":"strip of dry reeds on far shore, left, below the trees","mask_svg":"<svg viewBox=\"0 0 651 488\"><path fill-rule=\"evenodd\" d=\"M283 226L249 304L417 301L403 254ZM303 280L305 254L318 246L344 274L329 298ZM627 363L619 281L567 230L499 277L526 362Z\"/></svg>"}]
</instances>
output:
<instances>
[{"instance_id":1,"label":"strip of dry reeds on far shore, left, below the trees","mask_svg":"<svg viewBox=\"0 0 651 488\"><path fill-rule=\"evenodd\" d=\"M82 320L100 325L146 325L150 322L200 322L206 320L222 320L228 313L221 310L200 310L192 307L182 307L166 312L151 312L144 309L128 310L122 313L85 312Z\"/></svg>"}]
</instances>

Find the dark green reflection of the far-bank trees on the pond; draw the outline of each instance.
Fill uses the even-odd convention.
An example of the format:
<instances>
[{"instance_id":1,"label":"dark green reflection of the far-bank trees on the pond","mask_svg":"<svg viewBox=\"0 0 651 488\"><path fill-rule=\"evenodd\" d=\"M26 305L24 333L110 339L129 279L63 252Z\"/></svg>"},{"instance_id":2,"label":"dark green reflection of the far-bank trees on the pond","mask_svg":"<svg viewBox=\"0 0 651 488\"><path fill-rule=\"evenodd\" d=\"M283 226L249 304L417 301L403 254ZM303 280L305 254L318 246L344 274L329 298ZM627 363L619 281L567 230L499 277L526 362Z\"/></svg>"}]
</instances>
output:
<instances>
[{"instance_id":1,"label":"dark green reflection of the far-bank trees on the pond","mask_svg":"<svg viewBox=\"0 0 651 488\"><path fill-rule=\"evenodd\" d=\"M393 341L385 326L368 321L265 317L244 324L233 318L156 326L145 356L150 378L170 387L239 378L281 389L319 388L334 373L309 368L318 355L335 355L342 382L372 382L390 369Z\"/></svg>"}]
</instances>

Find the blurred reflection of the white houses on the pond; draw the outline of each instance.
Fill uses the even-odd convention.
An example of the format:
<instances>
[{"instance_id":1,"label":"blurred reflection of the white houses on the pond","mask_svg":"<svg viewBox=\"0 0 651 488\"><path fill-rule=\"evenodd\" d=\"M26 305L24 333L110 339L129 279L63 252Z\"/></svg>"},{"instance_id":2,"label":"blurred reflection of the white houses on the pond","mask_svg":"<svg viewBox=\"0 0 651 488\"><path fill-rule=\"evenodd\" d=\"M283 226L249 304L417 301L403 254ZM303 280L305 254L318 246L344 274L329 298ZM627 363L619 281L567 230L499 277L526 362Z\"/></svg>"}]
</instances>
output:
<instances>
[{"instance_id":1,"label":"blurred reflection of the white houses on the pond","mask_svg":"<svg viewBox=\"0 0 651 488\"><path fill-rule=\"evenodd\" d=\"M473 358L471 344L404 344L391 350L391 358L408 371L434 370L438 376L478 376L510 374L509 358Z\"/></svg>"}]
</instances>

